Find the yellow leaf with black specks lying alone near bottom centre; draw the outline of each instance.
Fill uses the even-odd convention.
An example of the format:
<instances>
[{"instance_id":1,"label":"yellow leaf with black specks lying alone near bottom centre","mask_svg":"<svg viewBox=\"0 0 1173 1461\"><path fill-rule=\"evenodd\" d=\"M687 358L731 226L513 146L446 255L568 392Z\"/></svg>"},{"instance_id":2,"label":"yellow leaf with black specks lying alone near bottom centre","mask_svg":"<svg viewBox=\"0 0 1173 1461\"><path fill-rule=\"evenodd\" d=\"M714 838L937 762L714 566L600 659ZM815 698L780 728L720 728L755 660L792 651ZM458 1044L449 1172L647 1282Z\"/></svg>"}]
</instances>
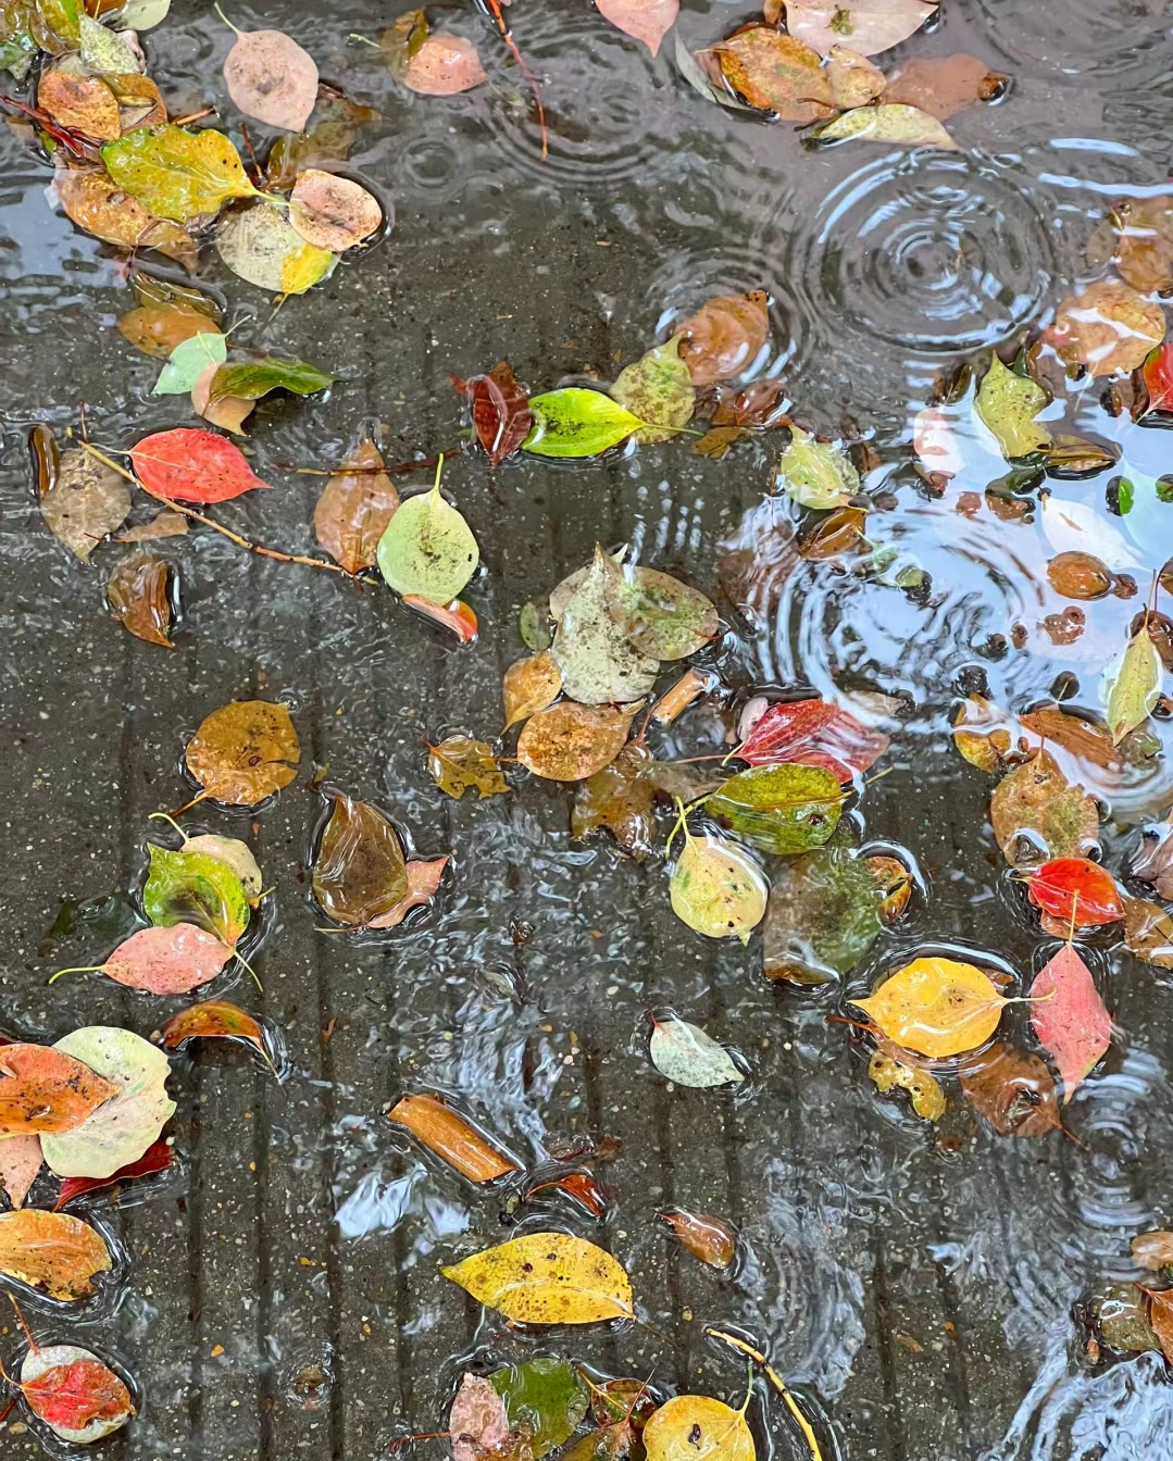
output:
<instances>
[{"instance_id":1,"label":"yellow leaf with black specks lying alone near bottom centre","mask_svg":"<svg viewBox=\"0 0 1173 1461\"><path fill-rule=\"evenodd\" d=\"M519 1324L596 1324L634 1313L622 1267L595 1243L565 1233L527 1233L443 1274Z\"/></svg>"}]
</instances>

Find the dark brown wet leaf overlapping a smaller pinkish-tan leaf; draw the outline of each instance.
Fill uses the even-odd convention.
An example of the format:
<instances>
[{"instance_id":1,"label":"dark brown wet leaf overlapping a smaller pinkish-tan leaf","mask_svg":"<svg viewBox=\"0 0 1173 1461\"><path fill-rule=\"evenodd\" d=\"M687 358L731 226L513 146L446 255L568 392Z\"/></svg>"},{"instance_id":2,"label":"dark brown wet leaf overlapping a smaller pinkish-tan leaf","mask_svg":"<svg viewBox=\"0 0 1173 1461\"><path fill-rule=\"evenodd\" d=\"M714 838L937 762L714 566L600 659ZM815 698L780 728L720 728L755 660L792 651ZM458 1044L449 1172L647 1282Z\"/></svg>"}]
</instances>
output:
<instances>
[{"instance_id":1,"label":"dark brown wet leaf overlapping a smaller pinkish-tan leaf","mask_svg":"<svg viewBox=\"0 0 1173 1461\"><path fill-rule=\"evenodd\" d=\"M399 833L378 808L335 796L314 858L314 899L327 918L367 928L408 894Z\"/></svg>"}]
</instances>

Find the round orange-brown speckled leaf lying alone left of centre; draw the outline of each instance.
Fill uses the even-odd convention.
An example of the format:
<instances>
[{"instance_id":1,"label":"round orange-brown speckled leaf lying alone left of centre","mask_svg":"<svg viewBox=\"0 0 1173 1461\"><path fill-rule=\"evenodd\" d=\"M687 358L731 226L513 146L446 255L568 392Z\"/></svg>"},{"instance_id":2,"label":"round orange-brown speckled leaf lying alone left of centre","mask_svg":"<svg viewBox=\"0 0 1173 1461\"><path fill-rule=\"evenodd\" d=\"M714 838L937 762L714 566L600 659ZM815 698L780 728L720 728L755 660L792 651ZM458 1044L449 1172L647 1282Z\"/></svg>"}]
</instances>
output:
<instances>
[{"instance_id":1,"label":"round orange-brown speckled leaf lying alone left of centre","mask_svg":"<svg viewBox=\"0 0 1173 1461\"><path fill-rule=\"evenodd\" d=\"M285 706L234 700L205 716L184 760L206 796L253 806L297 777L301 747Z\"/></svg>"}]
</instances>

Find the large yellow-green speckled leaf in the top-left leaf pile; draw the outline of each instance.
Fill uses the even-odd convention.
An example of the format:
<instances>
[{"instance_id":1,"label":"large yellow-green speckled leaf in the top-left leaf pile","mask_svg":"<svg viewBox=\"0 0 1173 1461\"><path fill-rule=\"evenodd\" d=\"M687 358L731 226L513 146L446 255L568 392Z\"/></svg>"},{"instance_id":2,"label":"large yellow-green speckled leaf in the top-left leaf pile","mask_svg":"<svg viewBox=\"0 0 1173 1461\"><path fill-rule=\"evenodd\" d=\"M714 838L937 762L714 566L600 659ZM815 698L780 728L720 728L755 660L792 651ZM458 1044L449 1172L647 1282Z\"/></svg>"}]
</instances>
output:
<instances>
[{"instance_id":1,"label":"large yellow-green speckled leaf in the top-left leaf pile","mask_svg":"<svg viewBox=\"0 0 1173 1461\"><path fill-rule=\"evenodd\" d=\"M229 197L253 197L240 153L222 131L184 131L167 123L137 127L102 148L107 171L156 218L187 222L218 213ZM297 237L297 235L294 235Z\"/></svg>"}]
</instances>

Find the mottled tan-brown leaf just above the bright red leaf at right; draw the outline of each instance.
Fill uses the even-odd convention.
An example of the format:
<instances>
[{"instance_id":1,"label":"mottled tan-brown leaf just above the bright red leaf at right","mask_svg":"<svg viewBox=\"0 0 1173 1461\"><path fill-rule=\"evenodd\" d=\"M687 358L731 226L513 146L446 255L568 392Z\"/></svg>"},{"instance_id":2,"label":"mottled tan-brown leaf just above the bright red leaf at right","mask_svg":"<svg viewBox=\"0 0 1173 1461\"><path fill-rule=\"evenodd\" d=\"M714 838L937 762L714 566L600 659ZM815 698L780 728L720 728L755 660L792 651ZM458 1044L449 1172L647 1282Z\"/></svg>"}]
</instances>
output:
<instances>
[{"instance_id":1,"label":"mottled tan-brown leaf just above the bright red leaf at right","mask_svg":"<svg viewBox=\"0 0 1173 1461\"><path fill-rule=\"evenodd\" d=\"M993 789L990 823L1012 868L1052 858L1085 858L1100 837L1100 809L1082 786L1072 785L1050 751L1017 766Z\"/></svg>"}]
</instances>

